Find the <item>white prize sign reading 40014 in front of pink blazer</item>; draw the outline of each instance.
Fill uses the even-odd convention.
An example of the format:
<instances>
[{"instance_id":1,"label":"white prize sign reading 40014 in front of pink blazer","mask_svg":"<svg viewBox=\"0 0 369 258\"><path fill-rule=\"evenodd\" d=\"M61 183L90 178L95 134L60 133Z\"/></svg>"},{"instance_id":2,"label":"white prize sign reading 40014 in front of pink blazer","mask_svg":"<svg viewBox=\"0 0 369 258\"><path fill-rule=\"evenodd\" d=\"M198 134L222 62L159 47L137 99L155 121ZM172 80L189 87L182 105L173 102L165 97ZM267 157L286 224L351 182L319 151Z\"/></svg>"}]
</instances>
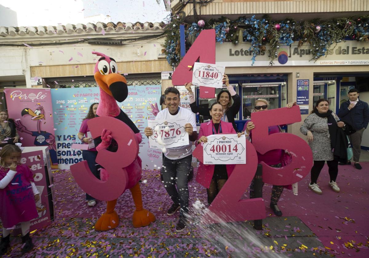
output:
<instances>
[{"instance_id":1,"label":"white prize sign reading 40014 in front of pink blazer","mask_svg":"<svg viewBox=\"0 0 369 258\"><path fill-rule=\"evenodd\" d=\"M203 145L204 164L246 164L245 135L209 135L207 139Z\"/></svg>"}]
</instances>

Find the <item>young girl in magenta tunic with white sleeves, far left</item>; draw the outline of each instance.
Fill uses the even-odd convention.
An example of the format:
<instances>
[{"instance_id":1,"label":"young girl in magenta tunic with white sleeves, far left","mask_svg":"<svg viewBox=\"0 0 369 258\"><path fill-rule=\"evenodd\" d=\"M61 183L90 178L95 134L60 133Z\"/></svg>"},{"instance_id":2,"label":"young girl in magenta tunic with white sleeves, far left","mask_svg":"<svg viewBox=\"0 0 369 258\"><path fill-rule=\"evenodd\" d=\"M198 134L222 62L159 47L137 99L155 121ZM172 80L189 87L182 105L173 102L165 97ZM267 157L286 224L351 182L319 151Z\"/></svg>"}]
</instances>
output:
<instances>
[{"instance_id":1,"label":"young girl in magenta tunic with white sleeves, far left","mask_svg":"<svg viewBox=\"0 0 369 258\"><path fill-rule=\"evenodd\" d=\"M0 255L10 247L10 230L21 223L22 253L32 250L30 238L31 220L38 217L36 203L39 192L33 174L26 165L20 164L21 149L6 145L0 151L0 218L3 222L3 237L0 241Z\"/></svg>"}]
</instances>

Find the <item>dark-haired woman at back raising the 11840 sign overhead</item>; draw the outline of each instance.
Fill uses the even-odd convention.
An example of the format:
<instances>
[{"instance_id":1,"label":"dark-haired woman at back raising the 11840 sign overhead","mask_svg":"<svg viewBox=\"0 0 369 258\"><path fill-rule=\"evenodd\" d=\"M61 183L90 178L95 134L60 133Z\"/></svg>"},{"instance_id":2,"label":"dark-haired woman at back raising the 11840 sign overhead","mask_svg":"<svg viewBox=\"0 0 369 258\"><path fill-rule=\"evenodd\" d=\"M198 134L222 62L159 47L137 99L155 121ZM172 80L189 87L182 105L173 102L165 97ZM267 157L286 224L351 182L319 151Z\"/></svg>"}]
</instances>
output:
<instances>
[{"instance_id":1,"label":"dark-haired woman at back raising the 11840 sign overhead","mask_svg":"<svg viewBox=\"0 0 369 258\"><path fill-rule=\"evenodd\" d=\"M237 115L237 113L239 112L239 108L241 107L241 98L233 89L233 87L230 86L228 76L225 74L223 76L223 83L225 83L225 85L227 86L227 90L222 90L220 91L220 93L217 94L217 102L219 102L223 107L223 116L221 118L221 121L232 123L234 130L238 132L237 125L234 122L234 116ZM184 84L184 87L186 87L189 92L191 111L195 114L199 113L199 115L202 116L209 116L210 108L197 107L194 94L191 90L191 86L192 83ZM232 99L234 102L233 105Z\"/></svg>"}]
</instances>

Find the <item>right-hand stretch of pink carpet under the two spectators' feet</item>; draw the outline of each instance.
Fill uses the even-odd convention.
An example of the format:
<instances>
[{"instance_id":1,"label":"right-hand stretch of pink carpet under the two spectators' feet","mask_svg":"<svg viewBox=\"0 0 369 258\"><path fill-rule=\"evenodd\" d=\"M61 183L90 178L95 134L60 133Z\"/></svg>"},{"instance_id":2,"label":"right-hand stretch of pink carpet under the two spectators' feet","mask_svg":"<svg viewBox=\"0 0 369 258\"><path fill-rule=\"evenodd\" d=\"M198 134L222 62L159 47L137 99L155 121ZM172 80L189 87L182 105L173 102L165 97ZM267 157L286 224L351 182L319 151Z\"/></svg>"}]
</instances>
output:
<instances>
[{"instance_id":1,"label":"right-hand stretch of pink carpet under the two spectators' feet","mask_svg":"<svg viewBox=\"0 0 369 258\"><path fill-rule=\"evenodd\" d=\"M340 193L332 191L328 185L328 167L325 165L318 179L322 195L308 188L308 176L299 182L298 196L285 193L279 201L283 216L299 217L337 257L369 257L369 162L361 165L362 170L352 165L339 166L337 184ZM270 196L269 189L264 196ZM347 250L345 245L351 249Z\"/></svg>"}]
</instances>

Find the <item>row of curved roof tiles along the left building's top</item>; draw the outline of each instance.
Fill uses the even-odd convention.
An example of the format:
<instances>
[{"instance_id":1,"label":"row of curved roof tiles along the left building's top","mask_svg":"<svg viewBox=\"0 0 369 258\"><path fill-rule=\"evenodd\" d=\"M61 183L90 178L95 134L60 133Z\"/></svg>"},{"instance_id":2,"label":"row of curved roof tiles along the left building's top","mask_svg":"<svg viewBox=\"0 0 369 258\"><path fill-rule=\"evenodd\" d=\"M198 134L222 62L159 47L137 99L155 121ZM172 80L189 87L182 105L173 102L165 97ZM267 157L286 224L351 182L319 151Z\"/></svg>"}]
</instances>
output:
<instances>
[{"instance_id":1,"label":"row of curved roof tiles along the left building's top","mask_svg":"<svg viewBox=\"0 0 369 258\"><path fill-rule=\"evenodd\" d=\"M38 27L4 27L0 26L0 36L44 36L44 35L65 35L65 34L101 34L124 33L135 31L161 31L165 24L163 22L97 22L96 24L66 24L58 26L38 26ZM104 32L103 32L104 30Z\"/></svg>"}]
</instances>

